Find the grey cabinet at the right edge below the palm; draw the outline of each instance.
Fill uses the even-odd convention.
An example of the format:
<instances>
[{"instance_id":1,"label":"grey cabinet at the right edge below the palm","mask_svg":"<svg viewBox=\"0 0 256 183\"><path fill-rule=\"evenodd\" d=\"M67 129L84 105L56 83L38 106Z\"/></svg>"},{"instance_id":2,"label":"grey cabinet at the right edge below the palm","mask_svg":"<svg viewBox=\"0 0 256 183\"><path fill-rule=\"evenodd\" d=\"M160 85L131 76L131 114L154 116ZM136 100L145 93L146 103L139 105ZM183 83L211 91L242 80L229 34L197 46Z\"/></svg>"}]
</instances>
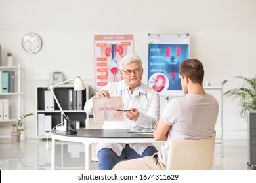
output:
<instances>
[{"instance_id":1,"label":"grey cabinet at the right edge below the palm","mask_svg":"<svg viewBox=\"0 0 256 183\"><path fill-rule=\"evenodd\" d=\"M256 169L256 110L248 113L248 166Z\"/></svg>"}]
</instances>

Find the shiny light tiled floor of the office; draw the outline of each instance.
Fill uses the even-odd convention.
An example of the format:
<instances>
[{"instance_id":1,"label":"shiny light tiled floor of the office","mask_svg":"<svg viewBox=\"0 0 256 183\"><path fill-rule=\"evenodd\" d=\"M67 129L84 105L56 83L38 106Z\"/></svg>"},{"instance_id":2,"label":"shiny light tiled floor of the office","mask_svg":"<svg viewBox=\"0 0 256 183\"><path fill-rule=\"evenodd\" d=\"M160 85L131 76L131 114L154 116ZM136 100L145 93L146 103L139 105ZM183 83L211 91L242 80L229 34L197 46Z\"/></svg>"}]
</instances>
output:
<instances>
[{"instance_id":1,"label":"shiny light tiled floor of the office","mask_svg":"<svg viewBox=\"0 0 256 183\"><path fill-rule=\"evenodd\" d=\"M49 170L51 169L51 139L49 150L47 140L21 141L12 143L10 139L0 139L0 169L4 170ZM159 147L158 147L159 148ZM221 158L220 145L215 145L214 169L250 170L247 166L247 139L224 140L224 157ZM85 167L83 144L56 141L55 169L81 169ZM93 163L93 169L98 164Z\"/></svg>"}]
</instances>

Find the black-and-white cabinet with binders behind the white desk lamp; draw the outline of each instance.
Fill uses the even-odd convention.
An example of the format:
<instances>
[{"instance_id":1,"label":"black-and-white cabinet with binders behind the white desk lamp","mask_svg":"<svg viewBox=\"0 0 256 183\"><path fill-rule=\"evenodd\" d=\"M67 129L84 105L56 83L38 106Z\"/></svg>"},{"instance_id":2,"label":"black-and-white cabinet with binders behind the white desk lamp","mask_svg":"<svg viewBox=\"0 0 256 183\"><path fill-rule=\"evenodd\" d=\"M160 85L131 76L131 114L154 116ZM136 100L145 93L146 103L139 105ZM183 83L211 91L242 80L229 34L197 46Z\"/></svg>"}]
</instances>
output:
<instances>
[{"instance_id":1,"label":"black-and-white cabinet with binders behind the white desk lamp","mask_svg":"<svg viewBox=\"0 0 256 183\"><path fill-rule=\"evenodd\" d=\"M66 116L70 120L75 120L79 127L85 127L88 115L83 110L83 106L88 100L89 86L85 86L85 90L74 91L72 84L63 84L55 88L53 92ZM51 129L64 125L64 119L48 86L37 86L35 93L37 137L48 138Z\"/></svg>"}]
</instances>

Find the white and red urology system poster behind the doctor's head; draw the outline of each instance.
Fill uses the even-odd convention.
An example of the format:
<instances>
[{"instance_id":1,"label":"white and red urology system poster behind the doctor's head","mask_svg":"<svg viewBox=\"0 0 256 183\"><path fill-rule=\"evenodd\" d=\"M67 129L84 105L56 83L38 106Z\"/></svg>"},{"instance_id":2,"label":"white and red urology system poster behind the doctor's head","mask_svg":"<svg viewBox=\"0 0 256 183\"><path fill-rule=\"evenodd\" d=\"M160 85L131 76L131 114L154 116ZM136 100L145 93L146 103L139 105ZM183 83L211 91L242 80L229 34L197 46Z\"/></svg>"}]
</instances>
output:
<instances>
[{"instance_id":1,"label":"white and red urology system poster behind the doctor's head","mask_svg":"<svg viewBox=\"0 0 256 183\"><path fill-rule=\"evenodd\" d=\"M133 35L95 35L95 92L122 80L120 59L133 54Z\"/></svg>"}]
</instances>

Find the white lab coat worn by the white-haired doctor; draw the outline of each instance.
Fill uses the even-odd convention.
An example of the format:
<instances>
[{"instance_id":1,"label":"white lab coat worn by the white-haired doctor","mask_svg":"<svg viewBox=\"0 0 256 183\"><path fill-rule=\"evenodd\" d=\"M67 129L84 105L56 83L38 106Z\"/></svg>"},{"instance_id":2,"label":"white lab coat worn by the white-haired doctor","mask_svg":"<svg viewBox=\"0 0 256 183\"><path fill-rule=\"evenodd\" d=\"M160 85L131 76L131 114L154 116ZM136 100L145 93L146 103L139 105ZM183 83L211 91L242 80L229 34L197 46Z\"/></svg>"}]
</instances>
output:
<instances>
[{"instance_id":1,"label":"white lab coat worn by the white-haired doctor","mask_svg":"<svg viewBox=\"0 0 256 183\"><path fill-rule=\"evenodd\" d=\"M106 86L102 87L101 90L108 90L110 96L121 96L123 101L123 109L137 108L140 112L139 117L136 121L129 120L125 117L123 122L104 122L102 128L153 128L156 122L159 119L160 113L160 97L159 93L156 90L146 86L143 82L140 82L140 86L137 86L133 94L129 90L129 86L125 84L125 80L119 82L111 82ZM85 103L85 112L87 114L93 114L93 100L89 99ZM142 154L148 146L152 144L129 144L133 150L138 154ZM125 144L108 144L108 143L99 143L96 146L96 153L102 148L112 148L118 156L121 155L121 151L125 148Z\"/></svg>"}]
</instances>

